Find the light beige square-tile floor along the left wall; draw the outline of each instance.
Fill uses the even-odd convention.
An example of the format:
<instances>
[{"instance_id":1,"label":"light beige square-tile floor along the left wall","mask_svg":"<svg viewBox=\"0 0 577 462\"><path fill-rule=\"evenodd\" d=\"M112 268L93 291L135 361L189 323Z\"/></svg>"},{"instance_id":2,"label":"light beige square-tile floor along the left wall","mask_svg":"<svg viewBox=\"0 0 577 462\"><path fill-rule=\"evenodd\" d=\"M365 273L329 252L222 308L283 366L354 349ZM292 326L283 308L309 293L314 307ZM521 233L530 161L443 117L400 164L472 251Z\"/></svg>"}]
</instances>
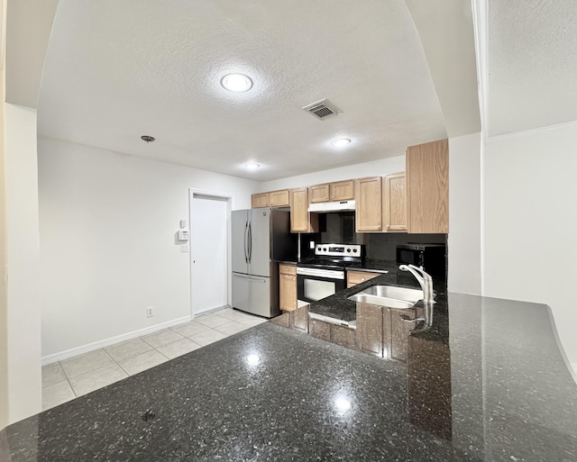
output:
<instances>
[{"instance_id":1,"label":"light beige square-tile floor along the left wall","mask_svg":"<svg viewBox=\"0 0 577 462\"><path fill-rule=\"evenodd\" d=\"M42 410L202 348L267 320L232 308L42 367Z\"/></svg>"}]
</instances>

